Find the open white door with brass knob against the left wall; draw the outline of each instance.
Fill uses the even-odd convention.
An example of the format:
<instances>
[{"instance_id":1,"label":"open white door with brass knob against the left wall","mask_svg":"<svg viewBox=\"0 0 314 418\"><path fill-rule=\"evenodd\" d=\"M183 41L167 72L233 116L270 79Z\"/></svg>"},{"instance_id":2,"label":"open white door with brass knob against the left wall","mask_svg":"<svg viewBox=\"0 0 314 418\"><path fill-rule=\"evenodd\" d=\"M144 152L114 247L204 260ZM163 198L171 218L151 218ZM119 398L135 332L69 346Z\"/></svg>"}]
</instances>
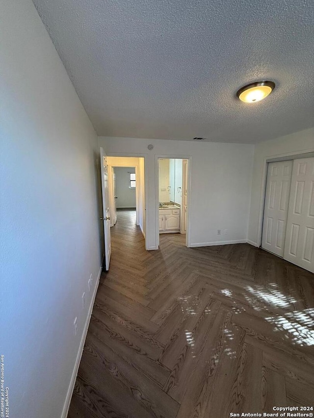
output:
<instances>
[{"instance_id":1,"label":"open white door with brass knob against the left wall","mask_svg":"<svg viewBox=\"0 0 314 418\"><path fill-rule=\"evenodd\" d=\"M102 190L103 190L103 210L104 210L104 234L105 234L105 269L109 270L111 255L110 240L110 212L109 212L109 194L108 194L108 166L103 148L100 148L100 159L102 168Z\"/></svg>"}]
</instances>

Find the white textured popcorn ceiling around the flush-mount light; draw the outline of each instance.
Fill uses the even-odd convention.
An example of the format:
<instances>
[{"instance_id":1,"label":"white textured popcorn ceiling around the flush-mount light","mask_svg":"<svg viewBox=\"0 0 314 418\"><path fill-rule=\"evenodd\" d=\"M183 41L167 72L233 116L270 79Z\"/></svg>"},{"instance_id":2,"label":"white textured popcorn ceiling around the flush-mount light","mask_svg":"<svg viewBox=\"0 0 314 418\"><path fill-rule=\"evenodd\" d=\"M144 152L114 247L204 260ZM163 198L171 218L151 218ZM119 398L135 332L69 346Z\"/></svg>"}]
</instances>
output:
<instances>
[{"instance_id":1,"label":"white textured popcorn ceiling around the flush-mount light","mask_svg":"<svg viewBox=\"0 0 314 418\"><path fill-rule=\"evenodd\" d=\"M98 135L256 143L314 125L312 0L33 1ZM265 100L235 97L265 79Z\"/></svg>"}]
</instances>

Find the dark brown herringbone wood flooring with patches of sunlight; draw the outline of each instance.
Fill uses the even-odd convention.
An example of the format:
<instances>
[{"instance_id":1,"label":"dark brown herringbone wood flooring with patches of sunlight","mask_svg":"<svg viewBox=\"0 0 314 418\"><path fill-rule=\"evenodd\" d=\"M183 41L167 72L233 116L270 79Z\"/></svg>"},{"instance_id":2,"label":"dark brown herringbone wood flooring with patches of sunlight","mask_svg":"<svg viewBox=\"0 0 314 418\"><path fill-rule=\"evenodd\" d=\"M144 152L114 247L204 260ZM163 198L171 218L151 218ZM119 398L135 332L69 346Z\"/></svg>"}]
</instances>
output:
<instances>
[{"instance_id":1,"label":"dark brown herringbone wood flooring with patches of sunlight","mask_svg":"<svg viewBox=\"0 0 314 418\"><path fill-rule=\"evenodd\" d=\"M314 275L248 244L145 251L111 228L68 418L225 418L314 405Z\"/></svg>"}]
</instances>

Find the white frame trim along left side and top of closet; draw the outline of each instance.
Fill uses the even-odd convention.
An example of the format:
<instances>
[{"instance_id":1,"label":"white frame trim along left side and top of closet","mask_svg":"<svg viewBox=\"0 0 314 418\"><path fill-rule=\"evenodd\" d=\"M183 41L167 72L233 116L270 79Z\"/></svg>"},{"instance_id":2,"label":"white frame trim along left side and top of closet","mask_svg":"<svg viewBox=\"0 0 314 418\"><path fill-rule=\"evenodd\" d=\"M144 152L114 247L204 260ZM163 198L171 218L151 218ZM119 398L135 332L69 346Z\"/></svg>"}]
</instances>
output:
<instances>
[{"instance_id":1,"label":"white frame trim along left side and top of closet","mask_svg":"<svg viewBox=\"0 0 314 418\"><path fill-rule=\"evenodd\" d=\"M300 153L297 153L297 151L285 152L283 154L269 155L263 158L262 190L261 190L261 197L260 197L258 235L257 235L257 242L256 242L258 247L262 247L262 229L263 229L268 163L274 163L277 161L285 161L285 160L296 160L298 158L308 158L308 157L314 157L314 148L305 149L303 152L300 152Z\"/></svg>"}]
</instances>

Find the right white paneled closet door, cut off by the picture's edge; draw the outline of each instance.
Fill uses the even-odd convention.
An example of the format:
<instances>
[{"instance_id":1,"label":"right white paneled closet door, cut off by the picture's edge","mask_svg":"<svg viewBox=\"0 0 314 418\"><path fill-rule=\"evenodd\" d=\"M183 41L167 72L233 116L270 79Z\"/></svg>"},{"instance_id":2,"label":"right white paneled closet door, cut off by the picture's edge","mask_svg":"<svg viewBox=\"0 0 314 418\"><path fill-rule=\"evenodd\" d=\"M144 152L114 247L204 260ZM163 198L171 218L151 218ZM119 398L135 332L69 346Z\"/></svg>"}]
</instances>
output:
<instances>
[{"instance_id":1,"label":"right white paneled closet door, cut off by the picture's edge","mask_svg":"<svg viewBox=\"0 0 314 418\"><path fill-rule=\"evenodd\" d=\"M314 272L314 157L293 162L284 258Z\"/></svg>"}]
</instances>

